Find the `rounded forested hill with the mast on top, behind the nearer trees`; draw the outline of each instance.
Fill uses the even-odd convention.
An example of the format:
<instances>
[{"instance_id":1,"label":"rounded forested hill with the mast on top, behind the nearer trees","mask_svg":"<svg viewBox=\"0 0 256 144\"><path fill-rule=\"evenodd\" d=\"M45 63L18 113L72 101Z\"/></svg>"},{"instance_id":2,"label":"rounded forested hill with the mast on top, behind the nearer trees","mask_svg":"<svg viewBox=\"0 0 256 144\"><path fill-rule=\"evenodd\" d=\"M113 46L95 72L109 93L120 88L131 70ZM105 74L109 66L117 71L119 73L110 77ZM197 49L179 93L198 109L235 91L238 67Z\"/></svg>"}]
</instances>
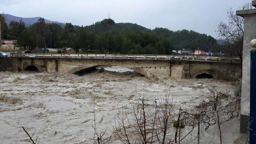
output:
<instances>
[{"instance_id":1,"label":"rounded forested hill with the mast on top, behind the nearer trees","mask_svg":"<svg viewBox=\"0 0 256 144\"><path fill-rule=\"evenodd\" d=\"M213 37L193 30L171 31L167 28L151 30L132 23L115 23L112 19L96 22L91 26L86 26L85 29L93 31L97 35L111 31L116 37L122 37L124 44L131 43L134 47L139 44L142 48L153 46L158 52L161 51L166 54L171 53L173 49L194 50L194 48L198 47L208 51L211 47L218 45ZM162 49L161 47L166 47L163 45L170 45L170 47Z\"/></svg>"}]
</instances>

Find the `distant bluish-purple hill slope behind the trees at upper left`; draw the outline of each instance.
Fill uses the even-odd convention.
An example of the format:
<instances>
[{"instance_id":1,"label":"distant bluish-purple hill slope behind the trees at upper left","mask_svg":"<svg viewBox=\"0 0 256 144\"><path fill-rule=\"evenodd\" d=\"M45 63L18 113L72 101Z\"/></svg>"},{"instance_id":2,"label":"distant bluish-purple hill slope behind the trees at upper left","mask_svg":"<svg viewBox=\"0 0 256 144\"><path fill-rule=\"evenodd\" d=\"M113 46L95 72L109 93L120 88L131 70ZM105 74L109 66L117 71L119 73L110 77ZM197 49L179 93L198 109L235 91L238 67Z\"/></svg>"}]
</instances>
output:
<instances>
[{"instance_id":1,"label":"distant bluish-purple hill slope behind the trees at upper left","mask_svg":"<svg viewBox=\"0 0 256 144\"><path fill-rule=\"evenodd\" d=\"M42 17L23 18L23 17L13 16L11 14L4 14L4 17L5 17L5 22L7 23L7 25L9 25L11 21L19 22L20 19L22 19L22 21L24 22L24 24L27 27L36 23L39 18L42 18ZM51 21L51 20L47 20L47 19L45 19L45 23L56 23L56 24L59 24L61 27L65 26L65 23L60 23L57 21Z\"/></svg>"}]
</instances>

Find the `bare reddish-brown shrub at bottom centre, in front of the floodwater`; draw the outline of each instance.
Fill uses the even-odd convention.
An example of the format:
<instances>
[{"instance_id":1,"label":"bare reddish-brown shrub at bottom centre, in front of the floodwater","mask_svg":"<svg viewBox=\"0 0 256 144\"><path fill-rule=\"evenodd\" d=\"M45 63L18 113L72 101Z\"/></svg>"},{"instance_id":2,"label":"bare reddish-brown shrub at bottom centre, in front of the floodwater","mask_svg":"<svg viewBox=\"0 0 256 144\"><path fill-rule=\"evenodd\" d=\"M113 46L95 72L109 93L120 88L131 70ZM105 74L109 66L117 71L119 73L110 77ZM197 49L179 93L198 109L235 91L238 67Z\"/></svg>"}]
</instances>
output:
<instances>
[{"instance_id":1,"label":"bare reddish-brown shrub at bottom centre, in front of the floodwater","mask_svg":"<svg viewBox=\"0 0 256 144\"><path fill-rule=\"evenodd\" d=\"M152 103L148 103L144 97L133 99L130 104L131 109L126 111L122 107L115 120L113 128L117 139L125 144L173 143L170 128L176 115L169 96L156 98Z\"/></svg>"}]
</instances>

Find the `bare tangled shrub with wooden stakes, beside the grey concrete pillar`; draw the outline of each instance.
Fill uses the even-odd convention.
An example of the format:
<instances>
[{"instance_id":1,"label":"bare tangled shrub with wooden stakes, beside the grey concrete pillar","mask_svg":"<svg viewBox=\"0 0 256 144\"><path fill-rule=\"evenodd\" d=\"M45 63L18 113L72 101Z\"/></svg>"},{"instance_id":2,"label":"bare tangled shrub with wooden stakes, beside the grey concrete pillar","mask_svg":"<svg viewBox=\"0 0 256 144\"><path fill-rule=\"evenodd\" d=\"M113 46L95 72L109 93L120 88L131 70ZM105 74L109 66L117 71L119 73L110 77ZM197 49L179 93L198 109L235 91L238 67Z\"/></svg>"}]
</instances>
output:
<instances>
[{"instance_id":1,"label":"bare tangled shrub with wooden stakes, beside the grey concrete pillar","mask_svg":"<svg viewBox=\"0 0 256 144\"><path fill-rule=\"evenodd\" d=\"M184 124L190 126L191 130L181 140L201 123L205 126L205 130L218 124L220 139L222 139L220 125L240 114L240 97L231 98L229 92L217 91L215 87L208 88L208 90L209 95L201 103L195 105L195 109L182 110Z\"/></svg>"}]
</instances>

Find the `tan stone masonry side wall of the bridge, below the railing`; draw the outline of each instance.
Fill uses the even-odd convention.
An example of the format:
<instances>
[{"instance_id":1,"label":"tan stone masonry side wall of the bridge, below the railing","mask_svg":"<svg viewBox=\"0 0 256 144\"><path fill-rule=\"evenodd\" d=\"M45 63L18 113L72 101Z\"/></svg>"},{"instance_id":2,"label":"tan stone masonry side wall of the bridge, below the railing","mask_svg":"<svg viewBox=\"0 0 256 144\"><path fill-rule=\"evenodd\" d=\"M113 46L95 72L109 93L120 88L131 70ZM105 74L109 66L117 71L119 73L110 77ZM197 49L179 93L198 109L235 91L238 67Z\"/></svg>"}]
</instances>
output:
<instances>
[{"instance_id":1,"label":"tan stone masonry side wall of the bridge, below the railing","mask_svg":"<svg viewBox=\"0 0 256 144\"><path fill-rule=\"evenodd\" d=\"M209 62L169 62L149 60L107 60L107 59L18 59L17 70L24 70L29 65L34 65L40 72L59 72L72 74L76 71L97 67L99 65L118 65L129 68L151 78L195 78L206 73L215 79L237 78L241 75L237 63L209 63ZM20 62L19 62L20 61Z\"/></svg>"}]
</instances>

